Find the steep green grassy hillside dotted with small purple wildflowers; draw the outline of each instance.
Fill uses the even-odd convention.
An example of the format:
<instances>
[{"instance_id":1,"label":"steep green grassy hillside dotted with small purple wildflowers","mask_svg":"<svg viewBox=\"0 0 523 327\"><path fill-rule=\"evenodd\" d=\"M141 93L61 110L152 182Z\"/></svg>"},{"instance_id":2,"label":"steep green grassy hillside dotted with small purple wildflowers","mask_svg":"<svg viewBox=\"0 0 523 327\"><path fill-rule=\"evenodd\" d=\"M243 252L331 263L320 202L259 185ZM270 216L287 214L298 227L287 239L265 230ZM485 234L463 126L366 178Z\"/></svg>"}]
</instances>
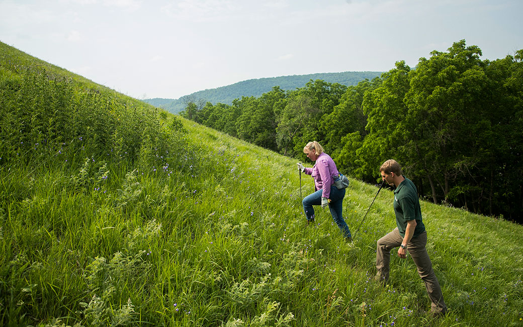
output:
<instances>
[{"instance_id":1,"label":"steep green grassy hillside dotted with small purple wildflowers","mask_svg":"<svg viewBox=\"0 0 523 327\"><path fill-rule=\"evenodd\" d=\"M305 225L296 160L4 62L0 325L523 324L521 225L422 202L449 307L434 320L412 260L373 281L390 191L347 243L327 210ZM351 180L353 233L376 191Z\"/></svg>"}]
</instances>

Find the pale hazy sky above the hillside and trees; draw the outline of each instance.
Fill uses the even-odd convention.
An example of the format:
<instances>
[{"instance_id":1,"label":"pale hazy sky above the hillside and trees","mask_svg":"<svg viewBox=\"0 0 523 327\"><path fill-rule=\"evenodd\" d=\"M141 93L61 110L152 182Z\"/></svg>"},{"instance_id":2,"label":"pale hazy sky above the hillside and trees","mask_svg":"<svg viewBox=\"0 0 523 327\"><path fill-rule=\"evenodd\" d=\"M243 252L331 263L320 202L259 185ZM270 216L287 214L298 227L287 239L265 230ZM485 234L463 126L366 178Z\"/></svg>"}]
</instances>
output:
<instances>
[{"instance_id":1,"label":"pale hazy sky above the hillside and trees","mask_svg":"<svg viewBox=\"0 0 523 327\"><path fill-rule=\"evenodd\" d=\"M521 0L0 0L0 41L135 98L523 49Z\"/></svg>"}]
</instances>

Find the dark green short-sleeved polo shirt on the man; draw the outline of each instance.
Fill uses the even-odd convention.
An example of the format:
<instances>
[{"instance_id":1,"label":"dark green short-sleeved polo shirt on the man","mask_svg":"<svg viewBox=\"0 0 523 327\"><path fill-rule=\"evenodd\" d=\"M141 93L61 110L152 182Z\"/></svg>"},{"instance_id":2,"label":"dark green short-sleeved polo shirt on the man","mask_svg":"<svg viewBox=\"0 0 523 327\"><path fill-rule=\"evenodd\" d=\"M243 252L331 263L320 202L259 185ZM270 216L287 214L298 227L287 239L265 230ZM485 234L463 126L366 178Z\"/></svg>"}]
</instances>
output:
<instances>
[{"instance_id":1,"label":"dark green short-sleeved polo shirt on the man","mask_svg":"<svg viewBox=\"0 0 523 327\"><path fill-rule=\"evenodd\" d=\"M394 190L394 213L396 214L397 229L400 235L405 236L407 221L416 219L416 229L413 237L425 231L422 219L422 208L419 206L416 186L408 178L401 182Z\"/></svg>"}]
</instances>

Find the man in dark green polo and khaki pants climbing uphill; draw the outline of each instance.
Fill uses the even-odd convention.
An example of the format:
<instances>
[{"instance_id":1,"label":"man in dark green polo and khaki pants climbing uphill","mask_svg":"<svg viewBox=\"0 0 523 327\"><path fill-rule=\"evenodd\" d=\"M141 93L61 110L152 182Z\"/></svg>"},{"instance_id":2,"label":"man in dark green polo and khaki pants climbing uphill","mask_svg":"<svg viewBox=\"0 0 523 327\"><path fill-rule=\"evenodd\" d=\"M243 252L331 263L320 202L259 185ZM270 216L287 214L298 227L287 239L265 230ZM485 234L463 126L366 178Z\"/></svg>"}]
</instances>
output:
<instances>
[{"instance_id":1,"label":"man in dark green polo and khaki pants climbing uphill","mask_svg":"<svg viewBox=\"0 0 523 327\"><path fill-rule=\"evenodd\" d=\"M447 306L441 294L438 278L432 268L427 253L427 232L422 219L417 189L414 183L401 171L401 166L395 160L387 160L380 167L381 178L389 185L394 185L394 213L396 225L392 232L386 234L377 242L376 247L376 279L386 283L389 279L389 263L391 250L400 246L397 256L407 257L411 254L418 274L425 283L431 301L430 310L438 316L447 312Z\"/></svg>"}]
</instances>

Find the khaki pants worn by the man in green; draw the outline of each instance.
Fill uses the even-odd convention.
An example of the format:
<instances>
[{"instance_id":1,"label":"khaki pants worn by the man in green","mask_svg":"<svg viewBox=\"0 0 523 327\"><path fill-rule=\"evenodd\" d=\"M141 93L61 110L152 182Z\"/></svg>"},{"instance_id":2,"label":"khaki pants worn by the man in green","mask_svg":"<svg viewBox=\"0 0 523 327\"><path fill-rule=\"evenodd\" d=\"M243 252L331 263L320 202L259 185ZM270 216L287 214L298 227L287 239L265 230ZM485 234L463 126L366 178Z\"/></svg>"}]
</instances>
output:
<instances>
[{"instance_id":1,"label":"khaki pants worn by the man in green","mask_svg":"<svg viewBox=\"0 0 523 327\"><path fill-rule=\"evenodd\" d=\"M392 232L386 234L377 242L376 247L376 269L378 273L376 278L386 283L389 279L389 264L391 258L391 249L401 245L403 237L395 228ZM422 278L427 289L428 296L431 302L431 311L434 313L447 312L447 306L441 294L438 278L432 268L432 263L428 257L427 249L427 232L423 232L412 238L407 244L407 251L411 254L412 260L418 268L419 277Z\"/></svg>"}]
</instances>

